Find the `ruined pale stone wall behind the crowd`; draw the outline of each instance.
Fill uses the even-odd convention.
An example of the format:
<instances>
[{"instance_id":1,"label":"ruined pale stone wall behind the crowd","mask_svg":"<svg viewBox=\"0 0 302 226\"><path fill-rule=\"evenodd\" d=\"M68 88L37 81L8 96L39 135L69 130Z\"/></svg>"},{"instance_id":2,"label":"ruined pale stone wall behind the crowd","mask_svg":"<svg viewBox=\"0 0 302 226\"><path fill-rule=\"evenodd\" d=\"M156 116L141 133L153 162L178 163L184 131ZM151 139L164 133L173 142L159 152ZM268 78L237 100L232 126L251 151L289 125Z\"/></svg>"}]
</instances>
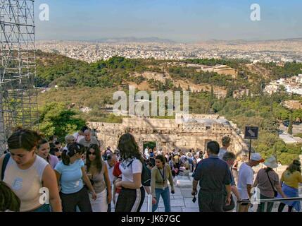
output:
<instances>
[{"instance_id":1,"label":"ruined pale stone wall behind the crowd","mask_svg":"<svg viewBox=\"0 0 302 226\"><path fill-rule=\"evenodd\" d=\"M194 115L193 118L224 119L218 115ZM120 136L127 132L132 133L141 150L144 142L154 141L162 150L194 148L194 150L204 151L208 141L218 141L222 145L222 137L229 136L232 139L229 150L241 155L242 150L248 150L248 146L238 134L237 128L234 128L231 123L222 124L214 121L208 125L196 122L183 123L179 119L132 117L122 119L122 124L89 122L89 126L96 129L98 139L101 141L101 148L111 146L115 149Z\"/></svg>"}]
</instances>

